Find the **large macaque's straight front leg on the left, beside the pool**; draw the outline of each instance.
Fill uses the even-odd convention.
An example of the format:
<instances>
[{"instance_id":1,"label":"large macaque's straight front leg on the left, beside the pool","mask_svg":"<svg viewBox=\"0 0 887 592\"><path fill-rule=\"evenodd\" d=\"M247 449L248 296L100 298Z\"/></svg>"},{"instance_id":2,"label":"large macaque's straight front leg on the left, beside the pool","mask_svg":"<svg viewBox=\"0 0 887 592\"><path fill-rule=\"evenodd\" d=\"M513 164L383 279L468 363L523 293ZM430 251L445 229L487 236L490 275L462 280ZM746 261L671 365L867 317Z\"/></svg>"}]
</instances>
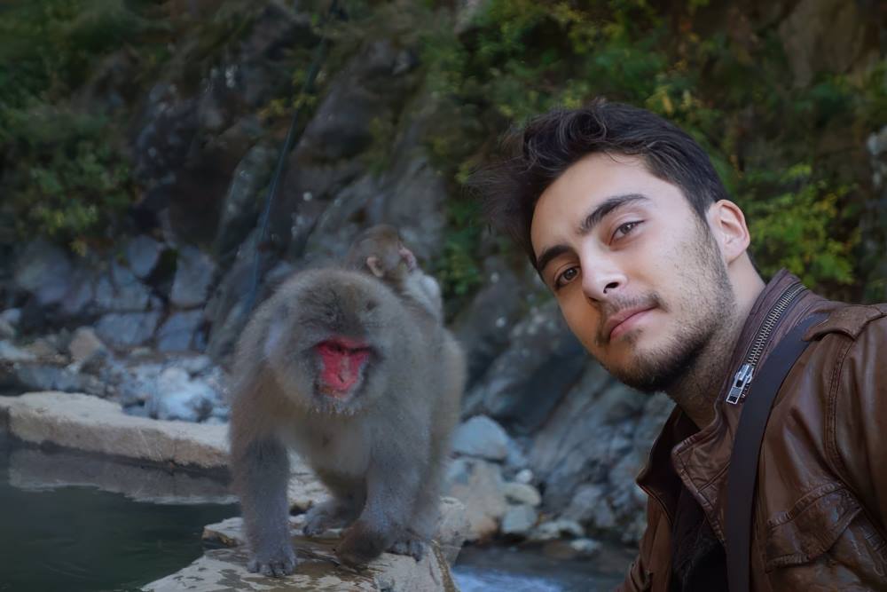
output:
<instances>
[{"instance_id":1,"label":"large macaque's straight front leg on the left, beside the pool","mask_svg":"<svg viewBox=\"0 0 887 592\"><path fill-rule=\"evenodd\" d=\"M247 569L267 576L292 573L296 558L289 533L289 458L276 438L232 451L232 469L252 552Z\"/></svg>"}]
</instances>

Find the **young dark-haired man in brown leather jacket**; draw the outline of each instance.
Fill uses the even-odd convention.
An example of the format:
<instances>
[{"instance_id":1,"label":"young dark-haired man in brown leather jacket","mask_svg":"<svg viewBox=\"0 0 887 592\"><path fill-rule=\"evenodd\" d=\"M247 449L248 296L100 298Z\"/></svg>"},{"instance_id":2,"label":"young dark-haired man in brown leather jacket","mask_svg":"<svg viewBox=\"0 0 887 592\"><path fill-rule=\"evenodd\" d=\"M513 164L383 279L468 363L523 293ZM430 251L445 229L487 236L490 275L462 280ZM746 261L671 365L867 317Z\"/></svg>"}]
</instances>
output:
<instances>
[{"instance_id":1,"label":"young dark-haired man in brown leather jacket","mask_svg":"<svg viewBox=\"0 0 887 592\"><path fill-rule=\"evenodd\" d=\"M887 305L765 285L703 149L648 111L598 101L538 117L484 184L600 363L677 404L638 484L647 531L624 590L726 590L727 469L755 370L825 320L776 394L757 465L753 590L887 589ZM755 391L757 392L757 391Z\"/></svg>"}]
</instances>

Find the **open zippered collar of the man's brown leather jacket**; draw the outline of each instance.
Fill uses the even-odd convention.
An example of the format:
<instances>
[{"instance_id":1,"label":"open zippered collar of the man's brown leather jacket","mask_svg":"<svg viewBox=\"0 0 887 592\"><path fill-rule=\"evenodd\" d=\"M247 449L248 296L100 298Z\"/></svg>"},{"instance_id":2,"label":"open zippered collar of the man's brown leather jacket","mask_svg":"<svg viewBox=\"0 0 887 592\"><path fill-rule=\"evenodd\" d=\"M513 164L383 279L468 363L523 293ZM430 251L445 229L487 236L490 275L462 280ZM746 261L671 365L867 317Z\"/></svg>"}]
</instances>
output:
<instances>
[{"instance_id":1,"label":"open zippered collar of the man's brown leather jacket","mask_svg":"<svg viewBox=\"0 0 887 592\"><path fill-rule=\"evenodd\" d=\"M734 347L729 375L725 377L715 399L714 420L702 430L697 430L695 423L679 407L675 407L656 438L647 467L638 477L638 485L662 506L670 524L673 523L680 484L683 482L702 506L718 539L722 543L726 540L726 468L733 452L734 435L742 410L742 401L737 405L728 404L726 394L734 383L735 373L742 367L756 337L761 334L762 324L777 308L780 299L797 288L799 283L797 277L781 270L757 297ZM763 345L757 367L763 364L773 345L783 335L807 314L820 309L825 302L806 289L795 297L779 315L778 325Z\"/></svg>"}]
</instances>

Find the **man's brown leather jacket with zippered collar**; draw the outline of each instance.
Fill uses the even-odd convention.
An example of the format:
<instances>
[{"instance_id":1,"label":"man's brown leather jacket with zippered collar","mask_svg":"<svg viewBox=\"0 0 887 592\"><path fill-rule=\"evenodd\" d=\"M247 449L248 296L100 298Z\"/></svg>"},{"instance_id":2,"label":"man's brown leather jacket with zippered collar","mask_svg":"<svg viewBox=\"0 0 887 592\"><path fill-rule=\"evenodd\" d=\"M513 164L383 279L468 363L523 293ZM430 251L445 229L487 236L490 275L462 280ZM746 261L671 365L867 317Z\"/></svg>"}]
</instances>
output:
<instances>
[{"instance_id":1,"label":"man's brown leather jacket with zippered collar","mask_svg":"<svg viewBox=\"0 0 887 592\"><path fill-rule=\"evenodd\" d=\"M696 431L676 408L665 422L638 477L649 495L647 531L617 589L669 589L681 482L724 544L727 466L742 411L742 400L732 405L726 394L766 319L780 312L798 284L780 272L757 298L714 421ZM887 590L887 305L851 306L804 290L779 315L756 367L812 312L830 314L805 335L813 343L782 384L761 447L751 588Z\"/></svg>"}]
</instances>

